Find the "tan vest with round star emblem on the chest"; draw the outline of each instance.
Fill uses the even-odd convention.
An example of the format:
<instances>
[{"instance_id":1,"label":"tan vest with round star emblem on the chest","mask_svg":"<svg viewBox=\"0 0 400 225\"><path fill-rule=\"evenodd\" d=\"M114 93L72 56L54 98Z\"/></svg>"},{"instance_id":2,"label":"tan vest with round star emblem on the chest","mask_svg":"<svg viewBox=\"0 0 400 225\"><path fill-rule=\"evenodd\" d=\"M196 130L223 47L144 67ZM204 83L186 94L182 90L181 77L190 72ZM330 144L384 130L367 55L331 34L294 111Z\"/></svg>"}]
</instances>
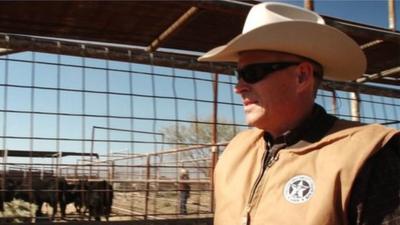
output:
<instances>
[{"instance_id":1,"label":"tan vest with round star emblem on the chest","mask_svg":"<svg viewBox=\"0 0 400 225\"><path fill-rule=\"evenodd\" d=\"M215 170L214 225L347 224L358 171L395 133L366 125L335 132L303 148L282 149L253 191L265 151L263 131L240 133Z\"/></svg>"}]
</instances>

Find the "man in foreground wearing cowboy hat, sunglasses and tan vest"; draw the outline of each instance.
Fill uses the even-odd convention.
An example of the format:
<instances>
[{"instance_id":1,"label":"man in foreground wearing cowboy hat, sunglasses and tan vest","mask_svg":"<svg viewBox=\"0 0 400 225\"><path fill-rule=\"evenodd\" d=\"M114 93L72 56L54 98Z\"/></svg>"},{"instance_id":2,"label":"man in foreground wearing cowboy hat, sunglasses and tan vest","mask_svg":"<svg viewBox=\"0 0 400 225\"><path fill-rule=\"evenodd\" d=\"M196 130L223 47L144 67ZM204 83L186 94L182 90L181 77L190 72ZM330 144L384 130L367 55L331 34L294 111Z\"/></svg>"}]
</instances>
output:
<instances>
[{"instance_id":1,"label":"man in foreground wearing cowboy hat, sunglasses and tan vest","mask_svg":"<svg viewBox=\"0 0 400 225\"><path fill-rule=\"evenodd\" d=\"M400 224L398 131L314 103L323 78L364 73L350 37L312 11L261 3L242 34L199 60L237 62L235 92L255 127L218 161L215 225Z\"/></svg>"}]
</instances>

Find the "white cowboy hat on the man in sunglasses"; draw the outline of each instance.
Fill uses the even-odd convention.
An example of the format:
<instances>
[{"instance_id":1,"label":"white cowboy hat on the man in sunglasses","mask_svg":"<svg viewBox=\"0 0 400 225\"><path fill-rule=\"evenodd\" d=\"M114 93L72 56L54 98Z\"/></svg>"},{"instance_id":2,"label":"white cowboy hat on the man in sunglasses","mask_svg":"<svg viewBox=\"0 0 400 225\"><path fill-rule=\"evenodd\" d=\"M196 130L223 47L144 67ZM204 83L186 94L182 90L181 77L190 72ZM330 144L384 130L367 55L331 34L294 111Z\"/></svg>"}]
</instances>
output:
<instances>
[{"instance_id":1,"label":"white cowboy hat on the man in sunglasses","mask_svg":"<svg viewBox=\"0 0 400 225\"><path fill-rule=\"evenodd\" d=\"M349 36L326 25L313 11L284 3L253 6L242 34L198 60L237 62L238 53L247 50L279 51L312 59L322 65L324 78L339 81L360 77L367 64L363 51Z\"/></svg>"}]
</instances>

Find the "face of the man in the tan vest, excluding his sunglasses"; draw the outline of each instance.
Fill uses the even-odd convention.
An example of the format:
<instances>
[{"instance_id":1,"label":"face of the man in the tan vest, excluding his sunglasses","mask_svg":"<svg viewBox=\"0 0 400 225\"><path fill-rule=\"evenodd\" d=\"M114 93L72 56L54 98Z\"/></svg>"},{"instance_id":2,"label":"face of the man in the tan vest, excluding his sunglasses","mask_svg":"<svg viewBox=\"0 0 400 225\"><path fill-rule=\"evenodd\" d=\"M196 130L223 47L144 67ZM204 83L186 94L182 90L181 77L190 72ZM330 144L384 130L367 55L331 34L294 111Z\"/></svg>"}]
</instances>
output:
<instances>
[{"instance_id":1,"label":"face of the man in the tan vest, excluding his sunglasses","mask_svg":"<svg viewBox=\"0 0 400 225\"><path fill-rule=\"evenodd\" d=\"M239 55L238 69L251 64L301 62L294 55L272 51L246 51ZM256 83L239 79L235 92L242 98L249 125L270 132L284 132L289 126L296 106L296 65L271 72Z\"/></svg>"}]
</instances>

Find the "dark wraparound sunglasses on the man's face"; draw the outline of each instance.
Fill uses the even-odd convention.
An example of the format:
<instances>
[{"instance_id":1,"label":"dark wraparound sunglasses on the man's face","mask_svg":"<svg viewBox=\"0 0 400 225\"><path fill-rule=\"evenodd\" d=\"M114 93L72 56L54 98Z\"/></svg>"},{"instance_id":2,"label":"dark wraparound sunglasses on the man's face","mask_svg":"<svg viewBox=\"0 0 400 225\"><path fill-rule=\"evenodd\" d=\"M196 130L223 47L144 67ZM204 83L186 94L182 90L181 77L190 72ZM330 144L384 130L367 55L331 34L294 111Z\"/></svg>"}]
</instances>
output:
<instances>
[{"instance_id":1,"label":"dark wraparound sunglasses on the man's face","mask_svg":"<svg viewBox=\"0 0 400 225\"><path fill-rule=\"evenodd\" d=\"M243 79L246 83L255 84L275 71L298 64L300 62L255 63L247 65L242 69L237 69L235 75L238 81Z\"/></svg>"}]
</instances>

